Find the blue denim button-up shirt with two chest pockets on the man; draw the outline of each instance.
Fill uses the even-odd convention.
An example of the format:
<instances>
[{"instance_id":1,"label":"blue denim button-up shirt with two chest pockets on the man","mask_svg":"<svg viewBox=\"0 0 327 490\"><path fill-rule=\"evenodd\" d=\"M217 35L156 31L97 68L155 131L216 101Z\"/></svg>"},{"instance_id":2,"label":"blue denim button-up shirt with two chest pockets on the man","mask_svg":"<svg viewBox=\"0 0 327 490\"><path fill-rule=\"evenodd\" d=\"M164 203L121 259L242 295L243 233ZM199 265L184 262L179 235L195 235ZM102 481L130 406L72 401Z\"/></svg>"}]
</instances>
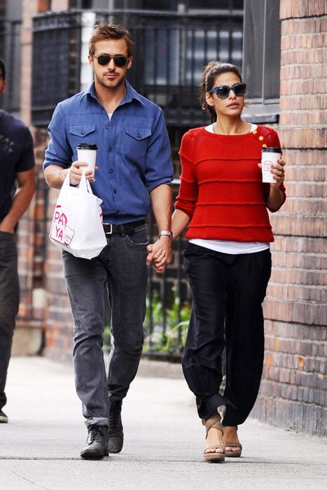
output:
<instances>
[{"instance_id":1,"label":"blue denim button-up shirt with two chest pockets on the man","mask_svg":"<svg viewBox=\"0 0 327 490\"><path fill-rule=\"evenodd\" d=\"M48 127L50 142L43 169L68 168L77 160L78 143L97 144L92 191L102 199L104 221L128 223L146 218L149 193L172 183L172 153L162 110L126 81L126 95L111 120L95 95L85 92L57 105Z\"/></svg>"}]
</instances>

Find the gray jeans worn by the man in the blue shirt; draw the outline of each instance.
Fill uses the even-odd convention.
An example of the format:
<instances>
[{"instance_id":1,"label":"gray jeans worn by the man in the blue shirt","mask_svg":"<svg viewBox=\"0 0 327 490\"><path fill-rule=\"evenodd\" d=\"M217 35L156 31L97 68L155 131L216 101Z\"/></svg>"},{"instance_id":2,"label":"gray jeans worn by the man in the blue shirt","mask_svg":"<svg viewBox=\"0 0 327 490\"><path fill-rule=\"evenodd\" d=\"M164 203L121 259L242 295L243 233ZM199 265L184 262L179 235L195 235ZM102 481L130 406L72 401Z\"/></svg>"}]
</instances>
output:
<instances>
[{"instance_id":1,"label":"gray jeans worn by the man in the blue shirt","mask_svg":"<svg viewBox=\"0 0 327 490\"><path fill-rule=\"evenodd\" d=\"M74 318L74 371L87 426L107 425L109 397L121 400L137 374L146 311L146 225L135 235L108 235L97 258L63 251L64 276ZM109 372L104 365L106 311L113 345Z\"/></svg>"}]
</instances>

